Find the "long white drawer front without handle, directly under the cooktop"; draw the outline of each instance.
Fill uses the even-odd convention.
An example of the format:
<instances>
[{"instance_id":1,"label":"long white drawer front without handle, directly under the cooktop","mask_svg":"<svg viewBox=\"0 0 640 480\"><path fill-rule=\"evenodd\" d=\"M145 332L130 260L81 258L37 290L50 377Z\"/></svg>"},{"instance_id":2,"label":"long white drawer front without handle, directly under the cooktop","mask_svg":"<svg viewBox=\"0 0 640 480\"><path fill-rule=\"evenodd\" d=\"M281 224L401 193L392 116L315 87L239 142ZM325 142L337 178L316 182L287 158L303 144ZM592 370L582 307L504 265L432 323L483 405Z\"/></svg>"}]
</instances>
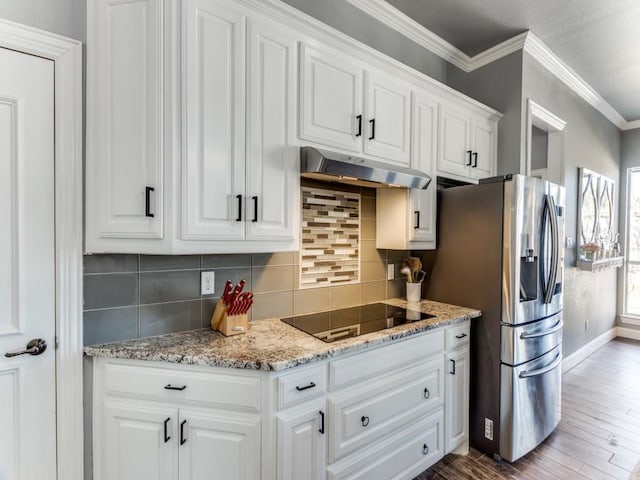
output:
<instances>
[{"instance_id":1,"label":"long white drawer front without handle, directly under the cooktop","mask_svg":"<svg viewBox=\"0 0 640 480\"><path fill-rule=\"evenodd\" d=\"M372 377L442 354L444 331L436 330L403 342L354 355L329 364L330 389L349 387Z\"/></svg>"}]
</instances>

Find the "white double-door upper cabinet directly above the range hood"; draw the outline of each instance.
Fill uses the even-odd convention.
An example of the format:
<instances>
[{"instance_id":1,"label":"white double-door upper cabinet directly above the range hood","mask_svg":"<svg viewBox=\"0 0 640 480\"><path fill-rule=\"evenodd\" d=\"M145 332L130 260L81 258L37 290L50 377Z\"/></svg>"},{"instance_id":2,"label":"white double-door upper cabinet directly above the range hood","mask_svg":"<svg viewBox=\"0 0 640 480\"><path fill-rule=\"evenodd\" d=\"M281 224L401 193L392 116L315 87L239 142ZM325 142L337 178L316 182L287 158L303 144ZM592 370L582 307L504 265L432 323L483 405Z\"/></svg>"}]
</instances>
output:
<instances>
[{"instance_id":1,"label":"white double-door upper cabinet directly above the range hood","mask_svg":"<svg viewBox=\"0 0 640 480\"><path fill-rule=\"evenodd\" d=\"M300 138L408 166L411 88L333 50L301 52Z\"/></svg>"}]
</instances>

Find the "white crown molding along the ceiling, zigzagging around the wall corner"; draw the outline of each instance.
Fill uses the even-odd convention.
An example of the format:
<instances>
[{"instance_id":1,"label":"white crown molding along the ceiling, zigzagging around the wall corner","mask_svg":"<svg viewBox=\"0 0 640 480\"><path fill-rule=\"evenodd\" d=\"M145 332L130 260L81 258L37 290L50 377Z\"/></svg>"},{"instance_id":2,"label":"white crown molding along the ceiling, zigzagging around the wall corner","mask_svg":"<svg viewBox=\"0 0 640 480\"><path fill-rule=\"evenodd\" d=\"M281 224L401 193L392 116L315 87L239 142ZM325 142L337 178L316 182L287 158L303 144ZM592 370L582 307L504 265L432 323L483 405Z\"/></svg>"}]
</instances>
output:
<instances>
[{"instance_id":1,"label":"white crown molding along the ceiling, zigzagging around the wall corner","mask_svg":"<svg viewBox=\"0 0 640 480\"><path fill-rule=\"evenodd\" d=\"M588 104L602 113L616 127L621 130L640 128L640 120L631 122L625 120L591 85L553 53L531 31L516 35L505 42L470 57L385 0L346 1L467 73L495 62L513 52L523 50Z\"/></svg>"}]
</instances>

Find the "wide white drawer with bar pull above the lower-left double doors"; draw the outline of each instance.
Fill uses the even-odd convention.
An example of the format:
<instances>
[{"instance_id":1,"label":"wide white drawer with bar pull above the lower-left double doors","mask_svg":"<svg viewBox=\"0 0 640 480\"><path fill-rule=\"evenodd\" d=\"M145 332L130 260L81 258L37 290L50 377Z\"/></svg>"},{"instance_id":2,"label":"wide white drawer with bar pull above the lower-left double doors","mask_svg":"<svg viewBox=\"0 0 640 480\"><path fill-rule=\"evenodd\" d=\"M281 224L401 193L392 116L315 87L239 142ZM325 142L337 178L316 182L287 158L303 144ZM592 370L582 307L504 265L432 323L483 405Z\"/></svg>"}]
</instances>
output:
<instances>
[{"instance_id":1,"label":"wide white drawer with bar pull above the lower-left double doors","mask_svg":"<svg viewBox=\"0 0 640 480\"><path fill-rule=\"evenodd\" d=\"M106 394L260 411L257 376L106 363L104 384Z\"/></svg>"}]
</instances>

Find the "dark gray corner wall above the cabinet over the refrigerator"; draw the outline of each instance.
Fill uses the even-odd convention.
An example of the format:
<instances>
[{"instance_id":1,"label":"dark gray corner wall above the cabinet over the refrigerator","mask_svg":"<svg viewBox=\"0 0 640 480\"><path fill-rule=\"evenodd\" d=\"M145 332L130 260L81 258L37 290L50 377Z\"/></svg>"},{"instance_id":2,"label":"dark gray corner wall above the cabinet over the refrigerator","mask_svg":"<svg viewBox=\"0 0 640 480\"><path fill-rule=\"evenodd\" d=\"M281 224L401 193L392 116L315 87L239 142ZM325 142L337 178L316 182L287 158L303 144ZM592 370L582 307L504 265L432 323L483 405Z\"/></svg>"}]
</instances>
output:
<instances>
[{"instance_id":1,"label":"dark gray corner wall above the cabinet over the refrigerator","mask_svg":"<svg viewBox=\"0 0 640 480\"><path fill-rule=\"evenodd\" d=\"M470 73L449 65L447 84L504 114L498 124L497 173L519 173L522 50Z\"/></svg>"}]
</instances>

